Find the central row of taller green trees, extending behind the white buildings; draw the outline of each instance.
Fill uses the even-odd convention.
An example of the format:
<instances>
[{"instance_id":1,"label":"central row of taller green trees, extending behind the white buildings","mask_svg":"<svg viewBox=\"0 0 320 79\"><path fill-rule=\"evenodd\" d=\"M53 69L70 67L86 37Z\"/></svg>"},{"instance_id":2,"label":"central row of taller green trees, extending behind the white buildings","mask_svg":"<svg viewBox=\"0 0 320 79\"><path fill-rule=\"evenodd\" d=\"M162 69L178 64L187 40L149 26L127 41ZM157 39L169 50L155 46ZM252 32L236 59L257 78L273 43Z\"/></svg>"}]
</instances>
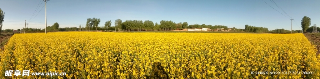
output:
<instances>
[{"instance_id":1,"label":"central row of taller green trees, extending behind the white buildings","mask_svg":"<svg viewBox=\"0 0 320 79\"><path fill-rule=\"evenodd\" d=\"M86 23L86 29L89 30L92 29L93 27L96 27L96 30L99 29L97 25L94 24L99 24L100 19L94 20L94 18L87 18L87 23ZM100 29L102 30L110 30L112 22L111 20L105 22L104 26ZM115 20L115 30L116 31L169 31L169 30L181 30L181 29L195 29L195 28L210 28L210 29L217 29L217 28L225 28L228 29L228 26L223 26L223 25L199 25L199 24L193 24L193 25L188 25L187 22L179 22L175 23L173 21L168 21L168 20L161 20L159 23L154 23L153 21L150 20L125 20L124 22L121 19L116 19ZM93 25L93 26L92 26Z\"/></svg>"}]
</instances>

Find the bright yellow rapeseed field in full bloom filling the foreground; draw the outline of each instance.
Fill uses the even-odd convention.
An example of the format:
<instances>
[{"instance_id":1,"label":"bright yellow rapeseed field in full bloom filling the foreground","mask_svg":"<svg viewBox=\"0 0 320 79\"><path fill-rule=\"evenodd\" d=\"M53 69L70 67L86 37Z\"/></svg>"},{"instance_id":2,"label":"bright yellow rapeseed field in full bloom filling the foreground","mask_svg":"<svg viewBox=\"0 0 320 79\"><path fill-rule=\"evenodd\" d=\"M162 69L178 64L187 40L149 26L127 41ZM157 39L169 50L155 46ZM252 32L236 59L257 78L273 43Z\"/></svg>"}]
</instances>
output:
<instances>
[{"instance_id":1,"label":"bright yellow rapeseed field in full bloom filling the foreground","mask_svg":"<svg viewBox=\"0 0 320 79\"><path fill-rule=\"evenodd\" d=\"M320 57L303 34L15 34L0 51L1 79L320 78ZM12 77L5 70L67 76ZM314 74L252 74L259 71Z\"/></svg>"}]
</instances>

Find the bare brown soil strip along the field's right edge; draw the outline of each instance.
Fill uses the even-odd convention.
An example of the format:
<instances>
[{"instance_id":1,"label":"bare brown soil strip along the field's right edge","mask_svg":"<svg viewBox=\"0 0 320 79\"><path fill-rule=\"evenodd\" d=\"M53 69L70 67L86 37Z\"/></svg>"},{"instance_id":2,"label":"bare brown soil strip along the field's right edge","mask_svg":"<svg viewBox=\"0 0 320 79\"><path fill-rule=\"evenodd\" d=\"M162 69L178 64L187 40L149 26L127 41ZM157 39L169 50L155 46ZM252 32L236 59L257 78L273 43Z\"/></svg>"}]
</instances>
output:
<instances>
[{"instance_id":1,"label":"bare brown soil strip along the field's right edge","mask_svg":"<svg viewBox=\"0 0 320 79\"><path fill-rule=\"evenodd\" d=\"M316 45L317 52L316 55L320 54L320 33L303 33L304 36L308 38L310 42Z\"/></svg>"}]
</instances>

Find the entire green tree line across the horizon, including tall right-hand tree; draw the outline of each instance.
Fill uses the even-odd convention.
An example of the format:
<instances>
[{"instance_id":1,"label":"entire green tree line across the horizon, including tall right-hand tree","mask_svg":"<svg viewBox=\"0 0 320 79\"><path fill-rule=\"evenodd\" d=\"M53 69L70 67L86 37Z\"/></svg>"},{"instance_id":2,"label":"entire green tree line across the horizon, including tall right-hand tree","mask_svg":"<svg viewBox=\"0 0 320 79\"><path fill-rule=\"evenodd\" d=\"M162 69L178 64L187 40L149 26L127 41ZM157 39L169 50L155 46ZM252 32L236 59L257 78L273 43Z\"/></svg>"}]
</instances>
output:
<instances>
[{"instance_id":1,"label":"entire green tree line across the horizon, including tall right-hand tree","mask_svg":"<svg viewBox=\"0 0 320 79\"><path fill-rule=\"evenodd\" d=\"M292 33L300 33L303 32L312 32L313 27L309 27L310 18L304 16L301 20L302 30L293 30ZM60 28L59 23L54 23L52 26L48 26L47 30L53 31L87 31L87 30L115 30L115 31L171 31L171 30L181 30L181 29L195 29L195 28L210 28L212 30L217 28L231 29L232 31L243 31L243 32L254 32L254 33L291 33L290 30L284 29L276 29L276 30L268 30L266 27L255 27L250 25L245 25L244 29L237 29L235 27L228 28L228 26L224 25L206 25L206 24L191 24L189 25L187 22L179 22L175 23L173 21L161 20L159 23L154 23L150 20L125 20L124 22L121 19L116 19L114 24L115 26L111 26L111 20L106 21L104 26L98 26L100 24L99 18L87 18L87 22L85 27L79 25L79 27L65 27ZM320 28L317 27L320 31ZM28 31L41 31L45 29L37 29L37 28L27 28ZM6 31L6 30L1 30ZM9 30L7 30L9 31ZM18 30L19 31L19 30ZM24 29L22 30L24 31Z\"/></svg>"}]
</instances>

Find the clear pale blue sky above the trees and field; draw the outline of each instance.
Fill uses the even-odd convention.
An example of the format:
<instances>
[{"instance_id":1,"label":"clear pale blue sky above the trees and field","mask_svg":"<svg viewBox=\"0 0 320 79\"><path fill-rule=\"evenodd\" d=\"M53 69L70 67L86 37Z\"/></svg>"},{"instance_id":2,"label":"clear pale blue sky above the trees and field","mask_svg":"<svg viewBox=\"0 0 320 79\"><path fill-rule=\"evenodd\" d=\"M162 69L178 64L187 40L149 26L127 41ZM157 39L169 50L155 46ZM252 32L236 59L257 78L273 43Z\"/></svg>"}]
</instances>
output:
<instances>
[{"instance_id":1,"label":"clear pale blue sky above the trees and field","mask_svg":"<svg viewBox=\"0 0 320 79\"><path fill-rule=\"evenodd\" d=\"M154 23L171 20L189 25L226 25L244 29L248 24L269 30L290 30L289 18L292 17L292 30L299 30L303 16L311 18L310 26L320 26L320 0L273 0L291 17L270 0L264 1L283 15L262 0L50 0L47 2L47 26L58 22L60 27L75 27L75 24L79 27L80 23L85 25L87 18L100 18L99 26L104 26L108 20L114 26L116 19L123 22L151 20ZM40 8L32 17L38 4ZM1 0L0 8L5 12L2 29L22 29L24 20L30 28L43 29L45 13L42 7L42 0Z\"/></svg>"}]
</instances>

